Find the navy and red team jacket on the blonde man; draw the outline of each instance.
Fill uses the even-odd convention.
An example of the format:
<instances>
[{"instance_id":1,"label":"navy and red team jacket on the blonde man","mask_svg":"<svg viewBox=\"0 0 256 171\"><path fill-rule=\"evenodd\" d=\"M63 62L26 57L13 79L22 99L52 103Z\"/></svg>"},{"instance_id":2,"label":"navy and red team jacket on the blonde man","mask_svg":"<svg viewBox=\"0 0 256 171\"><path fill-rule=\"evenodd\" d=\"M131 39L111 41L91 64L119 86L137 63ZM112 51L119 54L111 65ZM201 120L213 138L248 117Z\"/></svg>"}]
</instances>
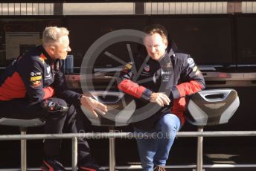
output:
<instances>
[{"instance_id":1,"label":"navy and red team jacket on the blonde man","mask_svg":"<svg viewBox=\"0 0 256 171\"><path fill-rule=\"evenodd\" d=\"M24 98L33 104L56 96L79 103L80 95L65 86L63 60L51 59L42 45L18 57L0 75L0 100Z\"/></svg>"}]
</instances>

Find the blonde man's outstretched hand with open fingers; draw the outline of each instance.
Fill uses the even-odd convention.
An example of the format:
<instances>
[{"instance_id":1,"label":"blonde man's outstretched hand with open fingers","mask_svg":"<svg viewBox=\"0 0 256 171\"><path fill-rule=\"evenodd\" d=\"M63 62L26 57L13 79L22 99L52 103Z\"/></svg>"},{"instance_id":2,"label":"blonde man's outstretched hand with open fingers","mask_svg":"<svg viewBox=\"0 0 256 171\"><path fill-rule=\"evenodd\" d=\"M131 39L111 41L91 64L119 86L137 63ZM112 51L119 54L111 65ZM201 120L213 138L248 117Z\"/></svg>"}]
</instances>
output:
<instances>
[{"instance_id":1,"label":"blonde man's outstretched hand with open fingers","mask_svg":"<svg viewBox=\"0 0 256 171\"><path fill-rule=\"evenodd\" d=\"M97 100L92 99L91 97L82 96L81 97L81 105L89 109L90 112L95 114L95 117L97 116L96 112L99 112L100 114L106 114L107 107L103 105L103 103L98 102Z\"/></svg>"}]
</instances>

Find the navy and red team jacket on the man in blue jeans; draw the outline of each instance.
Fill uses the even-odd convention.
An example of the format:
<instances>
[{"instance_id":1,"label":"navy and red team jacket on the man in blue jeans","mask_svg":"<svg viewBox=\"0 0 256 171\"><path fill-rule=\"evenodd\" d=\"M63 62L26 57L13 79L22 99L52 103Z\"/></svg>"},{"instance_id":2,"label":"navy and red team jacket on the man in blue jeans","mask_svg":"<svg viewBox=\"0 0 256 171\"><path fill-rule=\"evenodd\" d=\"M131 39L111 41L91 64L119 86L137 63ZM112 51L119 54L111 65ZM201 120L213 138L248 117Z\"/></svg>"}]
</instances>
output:
<instances>
[{"instance_id":1,"label":"navy and red team jacket on the man in blue jeans","mask_svg":"<svg viewBox=\"0 0 256 171\"><path fill-rule=\"evenodd\" d=\"M139 109L150 103L150 94L166 92L171 104L159 107L156 114L138 121L138 129L153 129L156 121L163 114L176 114L181 123L185 123L185 96L205 88L201 71L188 54L175 53L170 49L159 62L150 57L137 54L134 62L129 62L121 71L121 82L118 88L135 98L136 108ZM144 109L143 112L147 111Z\"/></svg>"}]
</instances>

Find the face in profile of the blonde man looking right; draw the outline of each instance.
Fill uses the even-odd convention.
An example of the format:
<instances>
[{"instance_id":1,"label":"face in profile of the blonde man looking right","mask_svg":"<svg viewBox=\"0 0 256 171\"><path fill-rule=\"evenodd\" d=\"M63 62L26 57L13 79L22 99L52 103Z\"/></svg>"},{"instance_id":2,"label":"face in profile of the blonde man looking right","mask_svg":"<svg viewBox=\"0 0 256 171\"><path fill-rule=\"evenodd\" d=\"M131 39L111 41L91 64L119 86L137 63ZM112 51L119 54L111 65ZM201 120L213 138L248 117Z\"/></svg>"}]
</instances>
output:
<instances>
[{"instance_id":1,"label":"face in profile of the blonde man looking right","mask_svg":"<svg viewBox=\"0 0 256 171\"><path fill-rule=\"evenodd\" d=\"M71 48L69 47L68 36L62 36L60 42L54 45L52 57L54 59L65 59L69 51L71 51Z\"/></svg>"}]
</instances>

